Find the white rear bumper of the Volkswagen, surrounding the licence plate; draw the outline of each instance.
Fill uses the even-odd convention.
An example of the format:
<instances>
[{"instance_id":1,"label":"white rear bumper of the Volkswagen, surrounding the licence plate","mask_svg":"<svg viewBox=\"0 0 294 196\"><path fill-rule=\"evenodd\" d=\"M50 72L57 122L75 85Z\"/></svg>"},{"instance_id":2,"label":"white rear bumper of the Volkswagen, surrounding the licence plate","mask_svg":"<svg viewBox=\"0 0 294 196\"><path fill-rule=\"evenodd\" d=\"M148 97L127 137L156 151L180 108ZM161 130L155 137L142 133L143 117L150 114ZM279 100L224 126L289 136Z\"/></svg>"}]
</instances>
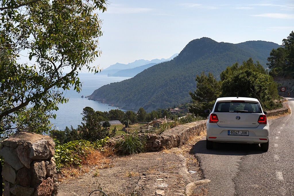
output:
<instances>
[{"instance_id":1,"label":"white rear bumper of the Volkswagen, surrounding the licence plate","mask_svg":"<svg viewBox=\"0 0 294 196\"><path fill-rule=\"evenodd\" d=\"M228 135L228 130L248 131L249 135ZM268 142L269 125L259 125L257 128L219 127L210 123L207 127L207 139L213 142L259 144ZM213 138L211 138L213 137ZM216 138L214 138L216 137Z\"/></svg>"}]
</instances>

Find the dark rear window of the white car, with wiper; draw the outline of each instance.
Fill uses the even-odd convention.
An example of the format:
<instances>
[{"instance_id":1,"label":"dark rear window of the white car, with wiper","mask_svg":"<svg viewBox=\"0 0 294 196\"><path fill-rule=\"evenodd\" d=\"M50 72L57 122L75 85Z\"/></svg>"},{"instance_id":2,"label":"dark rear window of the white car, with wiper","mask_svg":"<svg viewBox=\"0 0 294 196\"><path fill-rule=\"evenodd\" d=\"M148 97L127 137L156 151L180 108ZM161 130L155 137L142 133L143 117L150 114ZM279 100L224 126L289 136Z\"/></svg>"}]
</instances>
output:
<instances>
[{"instance_id":1,"label":"dark rear window of the white car, with wiper","mask_svg":"<svg viewBox=\"0 0 294 196\"><path fill-rule=\"evenodd\" d=\"M215 112L250 112L261 113L259 103L250 102L218 102Z\"/></svg>"}]
</instances>

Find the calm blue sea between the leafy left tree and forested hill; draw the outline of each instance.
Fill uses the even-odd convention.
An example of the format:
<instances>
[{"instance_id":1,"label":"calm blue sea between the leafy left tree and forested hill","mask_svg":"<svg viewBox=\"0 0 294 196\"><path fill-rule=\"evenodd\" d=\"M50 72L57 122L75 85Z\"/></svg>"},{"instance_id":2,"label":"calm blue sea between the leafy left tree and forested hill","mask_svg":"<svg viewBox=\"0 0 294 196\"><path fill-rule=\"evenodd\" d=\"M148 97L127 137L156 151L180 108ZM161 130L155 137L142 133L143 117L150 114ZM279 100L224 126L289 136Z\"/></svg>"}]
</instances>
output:
<instances>
[{"instance_id":1,"label":"calm blue sea between the leafy left tree and forested hill","mask_svg":"<svg viewBox=\"0 0 294 196\"><path fill-rule=\"evenodd\" d=\"M97 101L89 100L85 98L91 95L96 89L103 85L110 84L113 82L120 82L130 77L107 77L107 75L91 74L91 73L79 73L78 78L82 83L81 92L77 93L74 88L64 91L64 97L68 98L69 101L64 104L59 104L58 111L54 111L56 119L51 119L50 122L53 124L53 129L64 131L66 127L77 128L82 122L83 108L91 107L94 111L108 112L111 109L119 109L118 107L110 106L108 104L100 103ZM83 98L82 98L83 96ZM126 112L127 110L120 109Z\"/></svg>"}]
</instances>

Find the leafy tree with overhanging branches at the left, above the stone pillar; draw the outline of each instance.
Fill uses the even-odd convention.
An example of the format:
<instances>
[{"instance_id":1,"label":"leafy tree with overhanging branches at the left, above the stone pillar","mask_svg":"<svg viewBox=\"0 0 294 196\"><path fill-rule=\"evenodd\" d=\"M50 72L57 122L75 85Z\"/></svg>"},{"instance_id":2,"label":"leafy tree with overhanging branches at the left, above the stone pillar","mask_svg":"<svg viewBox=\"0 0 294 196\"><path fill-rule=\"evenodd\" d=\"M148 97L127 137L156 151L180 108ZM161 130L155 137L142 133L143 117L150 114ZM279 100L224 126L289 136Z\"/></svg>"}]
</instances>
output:
<instances>
[{"instance_id":1,"label":"leafy tree with overhanging branches at the left, above the stone pillar","mask_svg":"<svg viewBox=\"0 0 294 196\"><path fill-rule=\"evenodd\" d=\"M106 0L6 0L0 7L0 132L48 131L60 89L79 92L78 71L98 72ZM26 62L29 61L29 62ZM36 123L37 122L37 123Z\"/></svg>"}]
</instances>

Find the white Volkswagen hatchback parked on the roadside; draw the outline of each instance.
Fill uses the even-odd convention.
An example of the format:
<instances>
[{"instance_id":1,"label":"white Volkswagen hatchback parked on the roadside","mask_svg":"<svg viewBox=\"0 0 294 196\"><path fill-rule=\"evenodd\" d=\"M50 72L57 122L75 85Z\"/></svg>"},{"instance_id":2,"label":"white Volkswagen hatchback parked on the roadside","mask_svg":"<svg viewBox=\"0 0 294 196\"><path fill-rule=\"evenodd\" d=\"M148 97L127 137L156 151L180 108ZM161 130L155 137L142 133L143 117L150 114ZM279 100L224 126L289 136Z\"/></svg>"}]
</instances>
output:
<instances>
[{"instance_id":1,"label":"white Volkswagen hatchback parked on the roadside","mask_svg":"<svg viewBox=\"0 0 294 196\"><path fill-rule=\"evenodd\" d=\"M269 124L258 99L249 97L221 97L212 111L205 110L206 148L214 142L260 144L268 151Z\"/></svg>"}]
</instances>

